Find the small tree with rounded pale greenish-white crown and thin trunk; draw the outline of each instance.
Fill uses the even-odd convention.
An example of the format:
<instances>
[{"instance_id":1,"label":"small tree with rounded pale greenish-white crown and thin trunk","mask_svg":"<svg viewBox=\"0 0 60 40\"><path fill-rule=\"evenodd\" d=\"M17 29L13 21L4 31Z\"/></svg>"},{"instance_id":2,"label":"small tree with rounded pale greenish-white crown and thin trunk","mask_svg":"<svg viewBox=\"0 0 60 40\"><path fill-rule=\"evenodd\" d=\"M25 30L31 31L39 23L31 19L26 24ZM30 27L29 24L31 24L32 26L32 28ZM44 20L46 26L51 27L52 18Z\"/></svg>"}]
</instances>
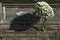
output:
<instances>
[{"instance_id":1,"label":"small tree with rounded pale greenish-white crown and thin trunk","mask_svg":"<svg viewBox=\"0 0 60 40\"><path fill-rule=\"evenodd\" d=\"M35 9L34 15L42 17L44 19L42 24L43 31L44 31L45 29L44 25L46 19L54 16L53 8L48 3L42 1L42 2L35 3L34 9Z\"/></svg>"}]
</instances>

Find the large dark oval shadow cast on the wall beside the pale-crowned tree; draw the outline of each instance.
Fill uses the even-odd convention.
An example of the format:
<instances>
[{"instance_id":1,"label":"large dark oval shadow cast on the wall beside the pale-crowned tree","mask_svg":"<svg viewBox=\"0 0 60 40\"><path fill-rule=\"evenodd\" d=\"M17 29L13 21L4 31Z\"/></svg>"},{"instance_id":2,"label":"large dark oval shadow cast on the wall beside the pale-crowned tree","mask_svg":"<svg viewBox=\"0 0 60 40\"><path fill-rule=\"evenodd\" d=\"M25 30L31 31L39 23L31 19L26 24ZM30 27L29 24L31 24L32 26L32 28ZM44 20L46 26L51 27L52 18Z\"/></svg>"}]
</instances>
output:
<instances>
[{"instance_id":1,"label":"large dark oval shadow cast on the wall beside the pale-crowned tree","mask_svg":"<svg viewBox=\"0 0 60 40\"><path fill-rule=\"evenodd\" d=\"M24 14L17 16L10 23L10 30L25 31L29 28L33 28L33 25L39 21L39 17L33 16L32 14Z\"/></svg>"}]
</instances>

